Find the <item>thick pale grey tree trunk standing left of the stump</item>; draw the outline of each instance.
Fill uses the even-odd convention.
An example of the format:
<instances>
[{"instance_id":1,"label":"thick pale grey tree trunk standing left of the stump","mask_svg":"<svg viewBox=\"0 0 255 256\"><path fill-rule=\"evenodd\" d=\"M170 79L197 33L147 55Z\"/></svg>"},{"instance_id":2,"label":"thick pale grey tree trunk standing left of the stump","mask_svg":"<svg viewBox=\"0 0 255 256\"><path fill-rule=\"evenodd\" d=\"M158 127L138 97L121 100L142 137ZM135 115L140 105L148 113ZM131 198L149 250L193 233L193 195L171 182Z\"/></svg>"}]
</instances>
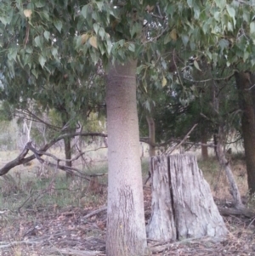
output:
<instances>
[{"instance_id":1,"label":"thick pale grey tree trunk standing left of the stump","mask_svg":"<svg viewBox=\"0 0 255 256\"><path fill-rule=\"evenodd\" d=\"M148 248L139 158L136 61L111 66L106 85L108 131L107 256L139 256Z\"/></svg>"}]
</instances>

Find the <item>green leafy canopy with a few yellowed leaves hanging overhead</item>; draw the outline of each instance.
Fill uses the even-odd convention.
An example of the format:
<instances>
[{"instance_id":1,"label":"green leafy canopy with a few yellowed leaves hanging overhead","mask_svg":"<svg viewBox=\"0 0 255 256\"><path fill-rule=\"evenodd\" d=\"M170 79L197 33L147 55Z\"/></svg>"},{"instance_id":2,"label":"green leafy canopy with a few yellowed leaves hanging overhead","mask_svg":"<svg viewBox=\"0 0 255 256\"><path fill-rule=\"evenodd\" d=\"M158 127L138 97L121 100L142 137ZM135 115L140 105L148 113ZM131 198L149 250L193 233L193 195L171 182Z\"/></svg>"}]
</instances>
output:
<instances>
[{"instance_id":1,"label":"green leafy canopy with a few yellowed leaves hanging overhead","mask_svg":"<svg viewBox=\"0 0 255 256\"><path fill-rule=\"evenodd\" d=\"M1 10L2 98L15 104L37 99L44 107L65 105L74 116L82 106L102 102L104 95L91 82L101 60L107 65L139 57L144 91L169 82L172 89L181 87L171 70L179 66L174 51L184 53L182 65L194 54L215 66L254 65L250 3L37 0L3 1ZM199 70L199 62L194 64ZM181 101L194 93L182 88Z\"/></svg>"}]
</instances>

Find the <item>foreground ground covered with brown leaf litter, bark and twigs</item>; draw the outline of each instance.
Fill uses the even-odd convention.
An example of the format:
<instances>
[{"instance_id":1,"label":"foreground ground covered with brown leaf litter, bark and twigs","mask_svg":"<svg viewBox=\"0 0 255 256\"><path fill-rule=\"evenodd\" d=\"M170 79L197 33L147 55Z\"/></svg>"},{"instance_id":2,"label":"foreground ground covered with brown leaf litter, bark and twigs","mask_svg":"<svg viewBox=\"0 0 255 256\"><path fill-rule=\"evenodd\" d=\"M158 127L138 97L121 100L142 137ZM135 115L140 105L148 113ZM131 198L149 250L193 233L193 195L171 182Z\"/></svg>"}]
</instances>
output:
<instances>
[{"instance_id":1,"label":"foreground ground covered with brown leaf litter, bark and twigs","mask_svg":"<svg viewBox=\"0 0 255 256\"><path fill-rule=\"evenodd\" d=\"M224 202L220 202L221 206ZM144 188L146 221L150 218L150 187ZM0 255L105 255L106 209L37 208L21 213L0 212ZM89 213L94 213L89 216ZM12 223L9 223L9 221ZM229 216L225 241L212 238L182 242L149 241L154 255L255 255L254 219Z\"/></svg>"}]
</instances>

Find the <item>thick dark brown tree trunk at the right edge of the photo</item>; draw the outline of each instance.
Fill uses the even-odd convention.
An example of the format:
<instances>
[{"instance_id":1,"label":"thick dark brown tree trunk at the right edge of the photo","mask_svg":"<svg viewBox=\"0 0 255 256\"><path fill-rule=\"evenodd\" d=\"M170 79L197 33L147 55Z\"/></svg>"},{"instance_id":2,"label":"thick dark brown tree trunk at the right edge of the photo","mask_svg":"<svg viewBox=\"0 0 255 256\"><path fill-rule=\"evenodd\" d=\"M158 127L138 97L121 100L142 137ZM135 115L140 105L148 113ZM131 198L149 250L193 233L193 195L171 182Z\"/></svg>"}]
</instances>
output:
<instances>
[{"instance_id":1,"label":"thick dark brown tree trunk at the right edge of the photo","mask_svg":"<svg viewBox=\"0 0 255 256\"><path fill-rule=\"evenodd\" d=\"M255 114L254 79L248 72L235 73L239 104L242 111L241 129L246 154L246 169L249 192L255 193Z\"/></svg>"}]
</instances>

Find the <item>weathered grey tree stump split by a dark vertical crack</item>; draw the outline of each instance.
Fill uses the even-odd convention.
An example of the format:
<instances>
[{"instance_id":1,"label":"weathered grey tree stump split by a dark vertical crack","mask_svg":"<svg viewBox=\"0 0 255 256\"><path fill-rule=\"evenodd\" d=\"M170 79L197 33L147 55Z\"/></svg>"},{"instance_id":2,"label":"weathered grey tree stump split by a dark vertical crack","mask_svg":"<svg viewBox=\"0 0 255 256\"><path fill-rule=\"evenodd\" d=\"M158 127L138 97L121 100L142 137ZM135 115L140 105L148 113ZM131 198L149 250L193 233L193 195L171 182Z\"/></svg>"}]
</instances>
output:
<instances>
[{"instance_id":1,"label":"weathered grey tree stump split by a dark vertical crack","mask_svg":"<svg viewBox=\"0 0 255 256\"><path fill-rule=\"evenodd\" d=\"M155 156L150 159L152 207L146 227L148 238L176 241L226 236L228 230L195 156Z\"/></svg>"}]
</instances>

